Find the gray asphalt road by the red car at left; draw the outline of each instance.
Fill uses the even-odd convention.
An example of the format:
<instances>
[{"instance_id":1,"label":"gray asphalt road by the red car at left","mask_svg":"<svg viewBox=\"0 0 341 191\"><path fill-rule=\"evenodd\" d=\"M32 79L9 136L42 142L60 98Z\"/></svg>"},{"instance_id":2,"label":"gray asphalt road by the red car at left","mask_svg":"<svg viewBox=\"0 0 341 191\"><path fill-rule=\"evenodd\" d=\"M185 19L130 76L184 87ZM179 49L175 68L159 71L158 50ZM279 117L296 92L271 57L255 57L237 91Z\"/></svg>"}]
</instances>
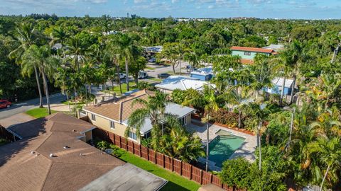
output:
<instances>
[{"instance_id":1,"label":"gray asphalt road by the red car at left","mask_svg":"<svg viewBox=\"0 0 341 191\"><path fill-rule=\"evenodd\" d=\"M50 95L51 104L60 103L63 100L66 100L66 97L62 93L56 93L56 94ZM45 97L43 97L43 104L44 106L46 104ZM27 110L31 110L32 108L36 108L38 106L39 106L39 98L13 104L11 105L11 108L0 109L0 119L11 117L12 115L16 115L21 112L26 112Z\"/></svg>"}]
</instances>

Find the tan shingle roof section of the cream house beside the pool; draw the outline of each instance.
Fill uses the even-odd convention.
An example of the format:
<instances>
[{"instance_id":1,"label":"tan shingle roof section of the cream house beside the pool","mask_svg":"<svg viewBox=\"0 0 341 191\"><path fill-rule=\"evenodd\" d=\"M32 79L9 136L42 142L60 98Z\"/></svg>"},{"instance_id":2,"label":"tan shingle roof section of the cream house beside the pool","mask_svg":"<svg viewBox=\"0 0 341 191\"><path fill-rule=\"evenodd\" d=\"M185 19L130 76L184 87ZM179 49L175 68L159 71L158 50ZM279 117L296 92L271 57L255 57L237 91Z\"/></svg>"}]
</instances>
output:
<instances>
[{"instance_id":1,"label":"tan shingle roof section of the cream house beside the pool","mask_svg":"<svg viewBox=\"0 0 341 191\"><path fill-rule=\"evenodd\" d=\"M143 105L139 103L133 105L132 103L135 99L141 98L146 100L151 94L153 94L153 92L148 90L137 91L136 93L132 93L129 96L124 96L117 101L112 100L109 102L89 106L85 108L85 111L121 122L128 119L129 115L131 115L134 110L143 107Z\"/></svg>"}]
</instances>

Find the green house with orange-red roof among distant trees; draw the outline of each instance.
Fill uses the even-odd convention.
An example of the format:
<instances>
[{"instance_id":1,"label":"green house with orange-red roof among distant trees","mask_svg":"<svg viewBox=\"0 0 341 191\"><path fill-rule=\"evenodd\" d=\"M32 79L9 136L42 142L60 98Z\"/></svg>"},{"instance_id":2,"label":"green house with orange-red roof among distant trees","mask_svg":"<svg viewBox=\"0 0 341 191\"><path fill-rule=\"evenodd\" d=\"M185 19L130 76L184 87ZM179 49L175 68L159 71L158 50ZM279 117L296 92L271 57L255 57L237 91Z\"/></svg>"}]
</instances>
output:
<instances>
[{"instance_id":1,"label":"green house with orange-red roof among distant trees","mask_svg":"<svg viewBox=\"0 0 341 191\"><path fill-rule=\"evenodd\" d=\"M232 56L239 56L241 57L242 64L253 64L254 63L254 57L256 57L256 54L278 54L273 49L264 49L264 48L254 48L254 47L231 47L230 50L232 50Z\"/></svg>"}]
</instances>

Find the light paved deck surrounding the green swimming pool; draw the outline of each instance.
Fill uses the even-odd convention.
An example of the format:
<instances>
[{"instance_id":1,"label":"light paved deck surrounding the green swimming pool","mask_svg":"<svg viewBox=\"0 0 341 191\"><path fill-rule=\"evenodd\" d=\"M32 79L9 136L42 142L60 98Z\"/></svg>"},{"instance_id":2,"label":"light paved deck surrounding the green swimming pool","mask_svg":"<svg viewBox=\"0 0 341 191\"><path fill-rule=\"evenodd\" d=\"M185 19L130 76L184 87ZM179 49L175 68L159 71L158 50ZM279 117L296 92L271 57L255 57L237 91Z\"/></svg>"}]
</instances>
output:
<instances>
[{"instance_id":1,"label":"light paved deck surrounding the green swimming pool","mask_svg":"<svg viewBox=\"0 0 341 191\"><path fill-rule=\"evenodd\" d=\"M200 124L201 122L198 120L194 120L194 119L192 119L192 122L194 122L194 124L191 123L190 125L188 125L187 129L190 132L193 132L193 135L197 135L198 137L200 137L200 139L202 140L202 144L206 145L206 142L207 142L206 125L203 125L203 126L195 125L195 124ZM229 133L233 134L234 136L242 137L245 139L242 146L240 146L239 149L234 151L234 154L232 154L232 156L230 156L229 159L242 157L242 158L246 158L251 163L256 160L256 157L254 156L254 152L256 151L256 146L257 146L257 137L256 136L250 135L250 134L245 134L242 132L237 132L233 129L227 129L227 128L221 127L219 125L214 125L214 124L209 124L209 125L210 125L210 128L208 129L208 131L209 131L209 142L218 136L217 132L220 129L224 130L226 132L229 132ZM202 161L202 159L199 161ZM220 170L219 167L213 166L215 164L214 162L210 161L209 163L210 163L210 169Z\"/></svg>"}]
</instances>

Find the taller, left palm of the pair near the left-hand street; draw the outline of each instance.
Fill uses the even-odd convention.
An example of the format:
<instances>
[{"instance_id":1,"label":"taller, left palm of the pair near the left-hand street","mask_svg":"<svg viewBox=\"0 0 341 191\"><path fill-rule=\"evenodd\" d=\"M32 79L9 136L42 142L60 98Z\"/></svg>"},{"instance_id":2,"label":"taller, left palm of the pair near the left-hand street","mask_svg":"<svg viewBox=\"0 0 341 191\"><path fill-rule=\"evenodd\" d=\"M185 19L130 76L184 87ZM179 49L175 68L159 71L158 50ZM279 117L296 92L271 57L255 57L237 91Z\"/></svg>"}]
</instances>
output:
<instances>
[{"instance_id":1,"label":"taller, left palm of the pair near the left-hand street","mask_svg":"<svg viewBox=\"0 0 341 191\"><path fill-rule=\"evenodd\" d=\"M22 61L22 55L23 53L28 50L31 45L36 44L36 33L38 33L37 30L33 27L32 23L21 23L20 27L16 28L15 37L16 40L20 43L20 45L16 48L16 50L13 50L9 53L9 57L16 57L16 63L26 65ZM31 65L31 64L30 64ZM24 68L24 69L23 69ZM26 69L26 70L25 70ZM23 75L31 76L33 73L36 75L36 83L38 86L38 93L39 93L39 108L43 108L43 94L41 93L40 89L40 83L39 83L39 75L38 75L38 69L36 64L33 64L32 67L22 66L21 73Z\"/></svg>"}]
</instances>

